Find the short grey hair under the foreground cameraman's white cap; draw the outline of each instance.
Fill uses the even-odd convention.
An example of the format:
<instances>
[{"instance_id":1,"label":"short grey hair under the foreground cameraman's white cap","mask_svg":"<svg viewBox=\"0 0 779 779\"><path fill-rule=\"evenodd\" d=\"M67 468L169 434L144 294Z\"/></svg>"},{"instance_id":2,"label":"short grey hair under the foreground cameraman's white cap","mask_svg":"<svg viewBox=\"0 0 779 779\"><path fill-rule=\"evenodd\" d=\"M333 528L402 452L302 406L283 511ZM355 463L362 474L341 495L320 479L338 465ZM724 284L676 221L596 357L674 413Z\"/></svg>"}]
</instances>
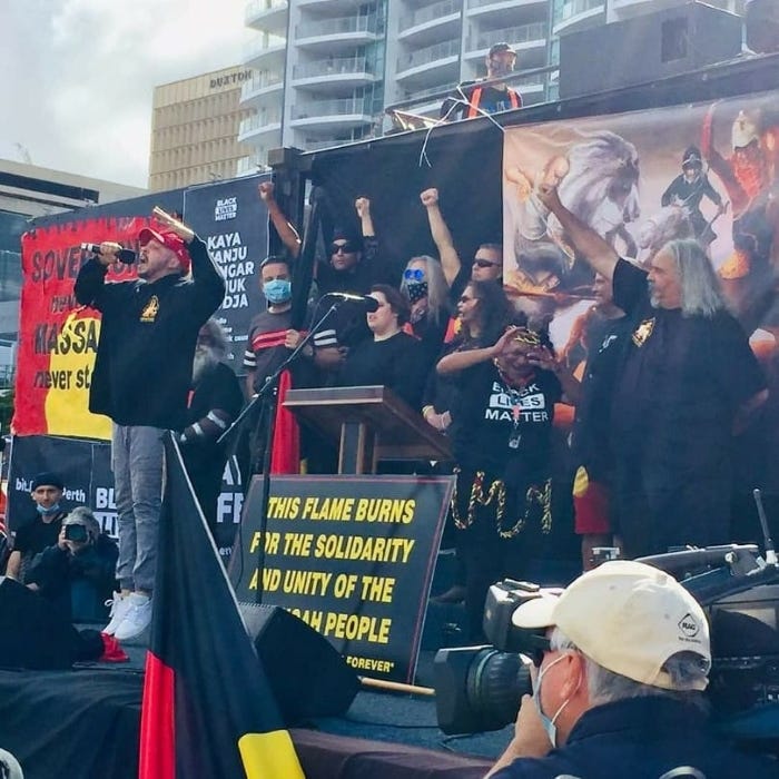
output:
<instances>
[{"instance_id":1,"label":"short grey hair under the foreground cameraman's white cap","mask_svg":"<svg viewBox=\"0 0 779 779\"><path fill-rule=\"evenodd\" d=\"M614 673L596 663L576 647L560 628L554 628L550 638L553 650L574 650L584 658L586 669L586 690L590 702L595 706L612 703L630 698L645 698L659 696L671 698L681 703L688 703L706 710L707 703L703 693L689 689L707 678L708 665L701 662L701 655L696 652L677 652L664 663L663 671L670 677L674 686L686 688L681 690L665 690L653 684L637 682L621 673Z\"/></svg>"}]
</instances>

